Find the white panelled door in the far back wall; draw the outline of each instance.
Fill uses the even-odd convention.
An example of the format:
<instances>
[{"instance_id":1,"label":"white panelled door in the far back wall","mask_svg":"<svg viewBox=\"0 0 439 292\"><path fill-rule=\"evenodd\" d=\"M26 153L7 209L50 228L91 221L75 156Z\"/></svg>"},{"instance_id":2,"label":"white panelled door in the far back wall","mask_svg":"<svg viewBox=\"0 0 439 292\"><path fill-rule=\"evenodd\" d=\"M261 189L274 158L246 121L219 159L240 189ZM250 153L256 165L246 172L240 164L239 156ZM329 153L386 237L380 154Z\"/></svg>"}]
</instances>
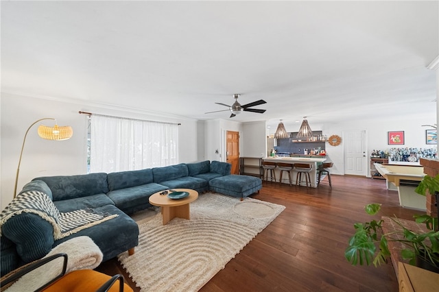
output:
<instances>
[{"instance_id":1,"label":"white panelled door in the far back wall","mask_svg":"<svg viewBox=\"0 0 439 292\"><path fill-rule=\"evenodd\" d=\"M367 175L366 131L343 133L344 174Z\"/></svg>"}]
</instances>

